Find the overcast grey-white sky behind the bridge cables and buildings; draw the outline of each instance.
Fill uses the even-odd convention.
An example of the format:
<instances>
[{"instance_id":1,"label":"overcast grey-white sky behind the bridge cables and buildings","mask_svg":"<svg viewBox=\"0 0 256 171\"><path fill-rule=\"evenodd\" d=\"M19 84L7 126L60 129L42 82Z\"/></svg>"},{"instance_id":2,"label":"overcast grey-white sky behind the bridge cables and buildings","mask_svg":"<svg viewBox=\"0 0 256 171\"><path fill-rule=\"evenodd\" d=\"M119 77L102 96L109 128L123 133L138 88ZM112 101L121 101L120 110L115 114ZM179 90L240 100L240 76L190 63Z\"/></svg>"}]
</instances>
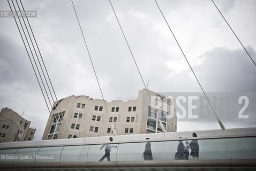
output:
<instances>
[{"instance_id":1,"label":"overcast grey-white sky behind the bridge cables and buildings","mask_svg":"<svg viewBox=\"0 0 256 171\"><path fill-rule=\"evenodd\" d=\"M73 0L104 98L137 96L144 88L107 0ZM153 0L112 0L148 89L201 92ZM256 66L212 1L158 0L206 92L256 92ZM71 1L22 1L58 99L102 99ZM215 0L256 61L256 1ZM0 1L0 10L10 10ZM13 18L0 18L0 107L9 107L35 127L40 140L49 116ZM254 113L255 114L255 113ZM249 119L250 120L250 119ZM226 128L256 127L255 121L224 122ZM220 129L216 122L178 122L178 131Z\"/></svg>"}]
</instances>

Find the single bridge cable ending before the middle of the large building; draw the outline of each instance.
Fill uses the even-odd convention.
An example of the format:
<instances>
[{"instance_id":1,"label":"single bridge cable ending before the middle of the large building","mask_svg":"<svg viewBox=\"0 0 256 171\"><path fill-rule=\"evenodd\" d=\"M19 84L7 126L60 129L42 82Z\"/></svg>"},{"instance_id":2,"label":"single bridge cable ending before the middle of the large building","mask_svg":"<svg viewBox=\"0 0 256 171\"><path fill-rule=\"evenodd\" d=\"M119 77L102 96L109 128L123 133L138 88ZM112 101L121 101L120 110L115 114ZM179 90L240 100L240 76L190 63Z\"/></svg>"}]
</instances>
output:
<instances>
[{"instance_id":1,"label":"single bridge cable ending before the middle of the large building","mask_svg":"<svg viewBox=\"0 0 256 171\"><path fill-rule=\"evenodd\" d=\"M91 64L92 64L92 67L93 67L93 71L94 71L94 74L95 74L95 77L96 77L96 80L97 80L97 84L98 84L98 86L99 86L99 88L100 88L101 96L102 96L102 98L103 98L103 102L104 102L104 105L105 105L105 107L106 107L107 114L109 115L108 107L107 107L107 104L106 104L106 100L104 99L104 96L103 96L103 93L102 93L102 89L101 89L101 86L100 86L100 82L99 82L99 79L98 79L98 77L97 77L97 74L96 74L94 65L93 65L93 60L92 60L91 54L90 54L90 52L89 52L89 49L88 49L88 46L87 46L87 43L86 43L84 33L82 32L82 27L81 27L81 25L80 25L80 21L79 21L79 19L78 19L76 7L74 6L73 0L71 0L71 2L72 2L72 5L73 5L74 12L76 13L77 21L78 21L78 24L79 24L79 27L80 27L80 30L81 30L82 37L84 38L86 50L87 50L89 59L91 60ZM110 116L110 115L109 115L109 116ZM113 121L113 119L112 119L112 121ZM116 131L115 131L115 128L114 128L114 126L113 126L113 124L112 124L112 121L111 121L111 128L112 128L112 131L113 131L113 133L114 133L114 136L116 136Z\"/></svg>"}]
</instances>

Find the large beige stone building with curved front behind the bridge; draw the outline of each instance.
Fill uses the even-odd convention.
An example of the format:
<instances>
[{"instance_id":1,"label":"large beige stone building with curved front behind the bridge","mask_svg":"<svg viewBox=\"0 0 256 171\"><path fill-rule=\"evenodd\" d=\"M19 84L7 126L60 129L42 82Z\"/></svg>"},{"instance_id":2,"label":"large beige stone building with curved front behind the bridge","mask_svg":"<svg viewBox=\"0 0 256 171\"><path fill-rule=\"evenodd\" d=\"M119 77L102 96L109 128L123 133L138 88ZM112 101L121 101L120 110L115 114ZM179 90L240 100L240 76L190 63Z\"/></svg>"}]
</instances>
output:
<instances>
[{"instance_id":1,"label":"large beige stone building with curved front behind the bridge","mask_svg":"<svg viewBox=\"0 0 256 171\"><path fill-rule=\"evenodd\" d=\"M150 98L149 98L150 97ZM106 101L105 101L106 102ZM142 89L136 99L104 100L69 96L55 102L42 139L61 139L176 131L174 99Z\"/></svg>"}]
</instances>

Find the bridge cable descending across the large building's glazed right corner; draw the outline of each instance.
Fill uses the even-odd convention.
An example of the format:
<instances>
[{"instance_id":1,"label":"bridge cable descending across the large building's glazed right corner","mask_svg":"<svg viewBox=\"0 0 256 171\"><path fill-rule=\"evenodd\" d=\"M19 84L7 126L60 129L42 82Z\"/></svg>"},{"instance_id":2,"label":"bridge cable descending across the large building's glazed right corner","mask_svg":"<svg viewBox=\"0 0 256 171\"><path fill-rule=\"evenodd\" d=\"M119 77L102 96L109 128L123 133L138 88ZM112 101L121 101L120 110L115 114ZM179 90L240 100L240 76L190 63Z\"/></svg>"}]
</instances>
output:
<instances>
[{"instance_id":1,"label":"bridge cable descending across the large building's glazed right corner","mask_svg":"<svg viewBox=\"0 0 256 171\"><path fill-rule=\"evenodd\" d=\"M133 56L132 50L131 50L131 48L130 48L130 45L129 45L129 43L128 43L127 39L126 39L126 36L125 36L125 34L124 34L124 31L123 31L123 28L122 28L122 26L121 26L121 24L120 24L120 22L119 22L119 20L118 20L118 17L117 17L117 15L116 15L116 12L115 12L114 7L113 7L113 5L112 5L112 3L111 3L111 1L110 1L110 0L109 0L109 3L110 3L110 5L111 5L111 7L112 7L112 10L113 10L113 12L114 12L115 16L116 16L116 20L117 20L117 22L118 22L118 25L119 25L119 27L120 27L120 29L121 29L122 33L123 33L123 36L124 36L125 42L126 42L126 44L127 44L128 48L129 48L129 51L130 51L130 53L131 53L132 59L133 59L133 61L134 61L134 64L135 64L135 66L136 66L136 67L137 67L137 69L138 69L138 72L139 72L140 78L141 78L141 80L142 80L142 82L143 82L143 84L144 84L145 89L147 90L147 94L148 94L148 97L149 97L149 99L150 99L150 103L151 103L151 105L152 105L152 106L154 106L154 105L153 105L153 102L152 102L152 99L151 99L151 96L149 95L148 89L147 89L147 87L146 87L145 81L143 80L143 77L142 77L142 75L141 75L141 73L140 73L140 69L139 69L139 67L138 67L138 65L137 65L137 62L136 62L136 60L135 60L134 56ZM154 110L155 110L155 112L156 112L156 114L157 114L157 111L156 111L156 109L155 109L155 108L154 108ZM162 128L162 130L163 130L163 133L166 133L166 130L165 130L165 129L163 129L164 127L163 127L162 121L161 121L160 119L159 119L158 121L159 121L160 126L161 126L161 128Z\"/></svg>"}]
</instances>

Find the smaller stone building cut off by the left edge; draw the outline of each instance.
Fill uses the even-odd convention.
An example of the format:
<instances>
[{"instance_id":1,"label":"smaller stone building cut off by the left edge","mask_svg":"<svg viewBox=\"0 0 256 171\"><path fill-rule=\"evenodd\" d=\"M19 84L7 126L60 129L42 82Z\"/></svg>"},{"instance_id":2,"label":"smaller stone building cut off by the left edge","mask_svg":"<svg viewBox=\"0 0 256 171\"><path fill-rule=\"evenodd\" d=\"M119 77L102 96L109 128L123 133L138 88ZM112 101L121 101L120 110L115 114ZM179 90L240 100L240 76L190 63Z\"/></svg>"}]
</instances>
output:
<instances>
[{"instance_id":1,"label":"smaller stone building cut off by the left edge","mask_svg":"<svg viewBox=\"0 0 256 171\"><path fill-rule=\"evenodd\" d=\"M29 128L31 121L22 118L10 108L0 112L0 142L32 141L35 128Z\"/></svg>"}]
</instances>

